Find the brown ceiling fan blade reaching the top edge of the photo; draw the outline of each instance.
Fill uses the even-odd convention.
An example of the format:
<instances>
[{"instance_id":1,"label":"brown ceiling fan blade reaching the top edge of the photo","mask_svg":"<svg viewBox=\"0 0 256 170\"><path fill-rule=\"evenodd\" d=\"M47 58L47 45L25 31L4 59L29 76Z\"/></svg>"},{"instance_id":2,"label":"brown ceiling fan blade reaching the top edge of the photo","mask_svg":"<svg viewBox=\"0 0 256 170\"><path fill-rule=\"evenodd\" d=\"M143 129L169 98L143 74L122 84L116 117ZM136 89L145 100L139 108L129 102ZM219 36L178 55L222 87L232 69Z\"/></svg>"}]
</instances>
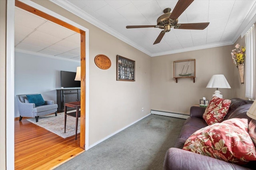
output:
<instances>
[{"instance_id":1,"label":"brown ceiling fan blade reaching the top edge of the photo","mask_svg":"<svg viewBox=\"0 0 256 170\"><path fill-rule=\"evenodd\" d=\"M172 20L176 20L193 1L194 0L179 0L174 9L172 10L172 14L169 18Z\"/></svg>"}]
</instances>

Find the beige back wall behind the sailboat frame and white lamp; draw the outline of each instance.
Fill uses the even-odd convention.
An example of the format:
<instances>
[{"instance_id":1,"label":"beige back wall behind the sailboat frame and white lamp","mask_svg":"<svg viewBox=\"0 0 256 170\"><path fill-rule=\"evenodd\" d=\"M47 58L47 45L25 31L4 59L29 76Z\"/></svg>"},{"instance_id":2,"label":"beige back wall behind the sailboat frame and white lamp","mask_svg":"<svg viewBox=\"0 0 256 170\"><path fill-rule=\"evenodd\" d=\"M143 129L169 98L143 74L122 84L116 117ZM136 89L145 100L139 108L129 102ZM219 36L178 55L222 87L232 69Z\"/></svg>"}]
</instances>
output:
<instances>
[{"instance_id":1,"label":"beige back wall behind the sailboat frame and white lamp","mask_svg":"<svg viewBox=\"0 0 256 170\"><path fill-rule=\"evenodd\" d=\"M216 89L206 89L214 74L224 74L232 89L219 89L223 98L233 97L234 65L230 55L233 45L200 49L152 57L151 109L189 114L190 106L202 97L210 100ZM173 79L173 61L196 59L196 79Z\"/></svg>"}]
</instances>

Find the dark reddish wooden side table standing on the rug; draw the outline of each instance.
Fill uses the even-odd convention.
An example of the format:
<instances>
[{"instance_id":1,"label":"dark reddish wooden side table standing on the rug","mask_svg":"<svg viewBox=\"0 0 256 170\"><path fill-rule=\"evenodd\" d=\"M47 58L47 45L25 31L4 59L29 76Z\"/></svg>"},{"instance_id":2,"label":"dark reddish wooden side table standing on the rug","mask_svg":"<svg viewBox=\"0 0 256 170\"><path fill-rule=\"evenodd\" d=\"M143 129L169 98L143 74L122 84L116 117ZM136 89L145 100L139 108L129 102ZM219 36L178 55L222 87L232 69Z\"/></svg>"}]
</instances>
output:
<instances>
[{"instance_id":1,"label":"dark reddish wooden side table standing on the rug","mask_svg":"<svg viewBox=\"0 0 256 170\"><path fill-rule=\"evenodd\" d=\"M75 112L67 113L67 107L75 108ZM64 133L66 133L66 121L67 121L67 115L72 116L76 118L76 136L77 136L77 125L78 125L78 118L80 117L80 109L81 103L80 101L70 102L64 104Z\"/></svg>"}]
</instances>

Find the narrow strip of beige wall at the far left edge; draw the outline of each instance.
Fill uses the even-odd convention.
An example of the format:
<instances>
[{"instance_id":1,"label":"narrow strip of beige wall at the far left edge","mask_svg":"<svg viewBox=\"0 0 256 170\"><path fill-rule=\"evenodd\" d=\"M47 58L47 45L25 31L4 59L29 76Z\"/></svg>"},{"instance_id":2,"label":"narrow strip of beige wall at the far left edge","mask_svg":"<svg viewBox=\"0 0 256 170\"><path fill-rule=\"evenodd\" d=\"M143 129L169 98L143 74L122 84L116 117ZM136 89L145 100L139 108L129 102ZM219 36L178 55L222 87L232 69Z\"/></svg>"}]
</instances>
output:
<instances>
[{"instance_id":1,"label":"narrow strip of beige wall at the far left edge","mask_svg":"<svg viewBox=\"0 0 256 170\"><path fill-rule=\"evenodd\" d=\"M6 0L0 0L0 169L6 169Z\"/></svg>"}]
</instances>

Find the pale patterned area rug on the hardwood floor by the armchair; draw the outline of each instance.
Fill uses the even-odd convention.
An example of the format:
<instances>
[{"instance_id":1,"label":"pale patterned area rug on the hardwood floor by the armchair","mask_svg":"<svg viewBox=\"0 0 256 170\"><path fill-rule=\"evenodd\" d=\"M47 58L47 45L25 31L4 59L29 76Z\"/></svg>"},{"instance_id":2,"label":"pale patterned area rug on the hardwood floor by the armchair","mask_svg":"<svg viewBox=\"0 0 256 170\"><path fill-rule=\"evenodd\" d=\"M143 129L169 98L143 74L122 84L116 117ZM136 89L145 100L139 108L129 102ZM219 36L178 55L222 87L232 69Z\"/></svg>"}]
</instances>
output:
<instances>
[{"instance_id":1,"label":"pale patterned area rug on the hardwood floor by the armchair","mask_svg":"<svg viewBox=\"0 0 256 170\"><path fill-rule=\"evenodd\" d=\"M62 138L68 138L76 134L76 118L72 116L67 116L66 133L64 133L64 113L58 113L57 116L52 114L39 117L38 122L36 122L35 118L27 120L50 132L58 134ZM78 133L80 133L80 118L78 118L77 134Z\"/></svg>"}]
</instances>

